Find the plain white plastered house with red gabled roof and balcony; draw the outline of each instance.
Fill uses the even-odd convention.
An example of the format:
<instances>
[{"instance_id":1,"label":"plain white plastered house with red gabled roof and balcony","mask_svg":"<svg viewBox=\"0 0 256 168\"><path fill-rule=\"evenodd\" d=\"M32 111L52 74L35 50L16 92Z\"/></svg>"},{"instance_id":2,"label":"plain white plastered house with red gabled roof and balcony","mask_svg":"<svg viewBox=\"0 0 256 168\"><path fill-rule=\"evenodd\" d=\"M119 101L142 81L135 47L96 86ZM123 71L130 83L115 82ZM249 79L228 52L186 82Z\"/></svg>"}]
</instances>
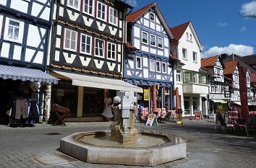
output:
<instances>
[{"instance_id":1,"label":"plain white plastered house with red gabled roof and balcony","mask_svg":"<svg viewBox=\"0 0 256 168\"><path fill-rule=\"evenodd\" d=\"M175 87L179 88L183 116L192 116L196 111L208 115L208 74L201 68L202 46L192 22L170 28L171 52L179 59L174 70Z\"/></svg>"}]
</instances>

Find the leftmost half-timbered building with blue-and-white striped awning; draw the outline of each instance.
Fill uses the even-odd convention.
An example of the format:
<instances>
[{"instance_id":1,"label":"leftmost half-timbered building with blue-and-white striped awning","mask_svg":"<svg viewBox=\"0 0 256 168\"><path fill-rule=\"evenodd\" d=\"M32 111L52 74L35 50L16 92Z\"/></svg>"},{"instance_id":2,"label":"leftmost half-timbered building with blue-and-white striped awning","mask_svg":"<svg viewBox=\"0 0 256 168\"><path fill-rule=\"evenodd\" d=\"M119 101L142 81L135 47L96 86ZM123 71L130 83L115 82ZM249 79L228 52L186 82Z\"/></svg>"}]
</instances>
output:
<instances>
[{"instance_id":1,"label":"leftmost half-timbered building with blue-and-white striped awning","mask_svg":"<svg viewBox=\"0 0 256 168\"><path fill-rule=\"evenodd\" d=\"M32 83L57 82L46 70L51 0L0 1L0 111L6 112L17 98L40 100ZM42 92L41 92L42 93ZM38 102L37 102L38 103ZM39 109L42 114L41 108ZM0 117L1 118L1 117Z\"/></svg>"}]
</instances>

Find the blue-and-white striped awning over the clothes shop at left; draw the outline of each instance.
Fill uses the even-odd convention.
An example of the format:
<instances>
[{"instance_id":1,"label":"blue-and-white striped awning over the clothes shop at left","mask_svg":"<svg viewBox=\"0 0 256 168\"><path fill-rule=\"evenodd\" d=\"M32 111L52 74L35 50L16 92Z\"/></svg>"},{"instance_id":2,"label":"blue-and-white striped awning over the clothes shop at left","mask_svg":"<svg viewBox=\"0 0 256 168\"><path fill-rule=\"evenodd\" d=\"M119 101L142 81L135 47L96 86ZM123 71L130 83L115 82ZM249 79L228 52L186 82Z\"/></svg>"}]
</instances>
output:
<instances>
[{"instance_id":1,"label":"blue-and-white striped awning over the clothes shop at left","mask_svg":"<svg viewBox=\"0 0 256 168\"><path fill-rule=\"evenodd\" d=\"M17 66L0 65L0 78L22 80L22 81L38 81L58 84L56 77L46 74L43 71L33 68L21 68Z\"/></svg>"}]
</instances>

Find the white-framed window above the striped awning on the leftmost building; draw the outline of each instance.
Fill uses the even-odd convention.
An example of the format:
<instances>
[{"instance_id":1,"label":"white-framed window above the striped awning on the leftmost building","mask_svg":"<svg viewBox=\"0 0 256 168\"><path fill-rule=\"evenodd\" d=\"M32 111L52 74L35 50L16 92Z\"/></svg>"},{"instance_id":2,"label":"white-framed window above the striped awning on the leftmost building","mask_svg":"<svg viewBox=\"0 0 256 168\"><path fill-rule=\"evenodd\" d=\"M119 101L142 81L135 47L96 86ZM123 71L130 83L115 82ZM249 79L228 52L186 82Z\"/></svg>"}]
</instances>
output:
<instances>
[{"instance_id":1,"label":"white-framed window above the striped awning on the leftmost building","mask_svg":"<svg viewBox=\"0 0 256 168\"><path fill-rule=\"evenodd\" d=\"M12 40L14 42L22 43L24 22L15 19L6 19L4 39Z\"/></svg>"}]
</instances>

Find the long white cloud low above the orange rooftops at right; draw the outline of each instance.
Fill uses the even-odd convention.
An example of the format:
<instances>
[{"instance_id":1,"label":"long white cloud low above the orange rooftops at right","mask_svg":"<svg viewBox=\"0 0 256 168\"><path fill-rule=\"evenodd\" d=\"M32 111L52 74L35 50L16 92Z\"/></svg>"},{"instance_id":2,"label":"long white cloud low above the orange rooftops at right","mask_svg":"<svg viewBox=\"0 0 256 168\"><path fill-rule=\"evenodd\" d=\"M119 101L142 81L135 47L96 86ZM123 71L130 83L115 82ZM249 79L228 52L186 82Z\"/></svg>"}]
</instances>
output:
<instances>
[{"instance_id":1,"label":"long white cloud low above the orange rooftops at right","mask_svg":"<svg viewBox=\"0 0 256 168\"><path fill-rule=\"evenodd\" d=\"M235 45L235 44L230 44L227 47L213 47L210 48L209 50L206 50L205 53L202 53L202 57L209 57L209 56L217 56L222 53L234 53L239 56L248 56L252 55L254 53L254 50L251 46L247 45Z\"/></svg>"}]
</instances>

